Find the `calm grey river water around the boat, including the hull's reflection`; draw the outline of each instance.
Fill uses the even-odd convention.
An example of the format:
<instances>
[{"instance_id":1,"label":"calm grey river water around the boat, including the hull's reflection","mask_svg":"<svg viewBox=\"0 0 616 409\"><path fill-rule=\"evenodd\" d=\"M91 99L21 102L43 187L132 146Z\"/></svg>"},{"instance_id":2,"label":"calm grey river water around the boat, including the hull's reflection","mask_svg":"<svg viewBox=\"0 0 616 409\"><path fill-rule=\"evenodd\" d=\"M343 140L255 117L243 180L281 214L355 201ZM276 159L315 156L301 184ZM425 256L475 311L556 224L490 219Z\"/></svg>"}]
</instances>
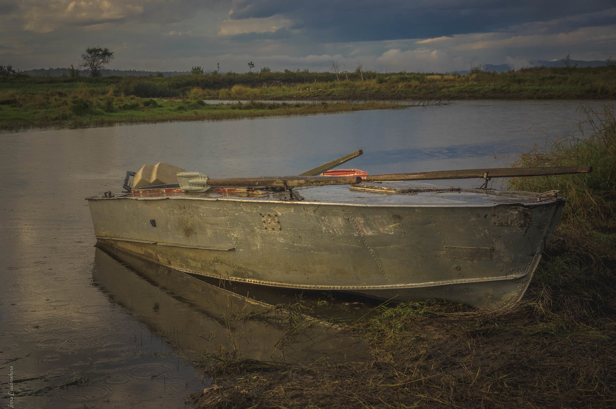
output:
<instances>
[{"instance_id":1,"label":"calm grey river water around the boat, including the hull's reflection","mask_svg":"<svg viewBox=\"0 0 616 409\"><path fill-rule=\"evenodd\" d=\"M318 325L309 336L325 344L298 336L281 347L275 320L231 318L267 306L95 248L84 197L119 191L126 170L162 161L210 177L293 175L356 149L363 156L343 167L371 174L502 167L524 147L576 132L578 108L579 101L458 101L0 133L0 405L183 407L208 385L190 351L368 359L357 340Z\"/></svg>"}]
</instances>

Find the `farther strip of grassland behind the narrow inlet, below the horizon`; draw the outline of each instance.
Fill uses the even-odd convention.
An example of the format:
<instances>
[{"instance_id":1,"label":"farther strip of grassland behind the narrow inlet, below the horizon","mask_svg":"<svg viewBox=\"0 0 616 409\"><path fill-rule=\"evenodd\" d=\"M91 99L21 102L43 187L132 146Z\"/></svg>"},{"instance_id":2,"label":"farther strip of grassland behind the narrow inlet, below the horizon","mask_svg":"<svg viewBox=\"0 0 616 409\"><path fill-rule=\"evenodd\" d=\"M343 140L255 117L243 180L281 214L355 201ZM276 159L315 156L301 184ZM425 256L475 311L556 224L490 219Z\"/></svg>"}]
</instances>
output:
<instances>
[{"instance_id":1,"label":"farther strip of grassland behind the narrow inlet, below the horizon","mask_svg":"<svg viewBox=\"0 0 616 409\"><path fill-rule=\"evenodd\" d=\"M614 99L616 68L524 68L505 73L227 73L174 77L15 77L0 92L91 92L142 98L269 100Z\"/></svg>"}]
</instances>

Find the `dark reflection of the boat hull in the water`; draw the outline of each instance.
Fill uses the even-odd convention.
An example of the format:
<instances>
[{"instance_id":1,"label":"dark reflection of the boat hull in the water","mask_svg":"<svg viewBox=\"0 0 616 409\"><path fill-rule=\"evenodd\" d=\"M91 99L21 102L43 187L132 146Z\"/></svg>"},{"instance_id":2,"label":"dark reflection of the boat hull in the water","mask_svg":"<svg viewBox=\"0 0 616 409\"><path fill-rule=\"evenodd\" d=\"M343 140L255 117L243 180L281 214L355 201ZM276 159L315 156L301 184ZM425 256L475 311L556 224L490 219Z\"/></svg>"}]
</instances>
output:
<instances>
[{"instance_id":1,"label":"dark reflection of the boat hull in the water","mask_svg":"<svg viewBox=\"0 0 616 409\"><path fill-rule=\"evenodd\" d=\"M285 309L116 248L99 244L92 276L111 301L184 351L226 350L276 362L370 359L366 345L336 325L308 317L291 328Z\"/></svg>"}]
</instances>

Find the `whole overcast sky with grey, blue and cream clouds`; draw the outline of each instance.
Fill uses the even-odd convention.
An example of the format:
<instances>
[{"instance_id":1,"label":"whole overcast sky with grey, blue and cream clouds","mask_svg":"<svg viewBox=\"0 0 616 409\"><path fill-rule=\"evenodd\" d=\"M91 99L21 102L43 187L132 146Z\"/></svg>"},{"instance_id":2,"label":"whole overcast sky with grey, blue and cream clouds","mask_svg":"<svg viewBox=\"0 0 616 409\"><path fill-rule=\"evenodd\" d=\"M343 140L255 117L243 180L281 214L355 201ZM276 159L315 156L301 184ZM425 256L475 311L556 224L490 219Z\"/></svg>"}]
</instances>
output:
<instances>
[{"instance_id":1,"label":"whole overcast sky with grey, blue and cream clouds","mask_svg":"<svg viewBox=\"0 0 616 409\"><path fill-rule=\"evenodd\" d=\"M0 0L0 65L439 72L616 59L615 0Z\"/></svg>"}]
</instances>

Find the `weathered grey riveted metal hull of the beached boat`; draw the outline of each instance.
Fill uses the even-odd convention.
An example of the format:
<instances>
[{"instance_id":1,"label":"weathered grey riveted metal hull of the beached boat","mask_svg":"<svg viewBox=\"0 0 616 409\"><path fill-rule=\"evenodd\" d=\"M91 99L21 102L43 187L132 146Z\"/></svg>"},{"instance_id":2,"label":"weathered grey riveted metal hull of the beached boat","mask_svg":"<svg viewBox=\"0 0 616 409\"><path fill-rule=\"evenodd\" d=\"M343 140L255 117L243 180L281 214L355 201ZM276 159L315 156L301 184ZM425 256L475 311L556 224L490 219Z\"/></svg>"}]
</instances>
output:
<instances>
[{"instance_id":1,"label":"weathered grey riveted metal hull of the beached boat","mask_svg":"<svg viewBox=\"0 0 616 409\"><path fill-rule=\"evenodd\" d=\"M184 193L92 197L89 205L100 242L181 271L498 308L524 293L564 204L482 189L386 196L341 186L300 190L299 202L288 193ZM508 214L501 207L528 213L532 224L516 221L525 216L494 224L496 207L499 215Z\"/></svg>"}]
</instances>

